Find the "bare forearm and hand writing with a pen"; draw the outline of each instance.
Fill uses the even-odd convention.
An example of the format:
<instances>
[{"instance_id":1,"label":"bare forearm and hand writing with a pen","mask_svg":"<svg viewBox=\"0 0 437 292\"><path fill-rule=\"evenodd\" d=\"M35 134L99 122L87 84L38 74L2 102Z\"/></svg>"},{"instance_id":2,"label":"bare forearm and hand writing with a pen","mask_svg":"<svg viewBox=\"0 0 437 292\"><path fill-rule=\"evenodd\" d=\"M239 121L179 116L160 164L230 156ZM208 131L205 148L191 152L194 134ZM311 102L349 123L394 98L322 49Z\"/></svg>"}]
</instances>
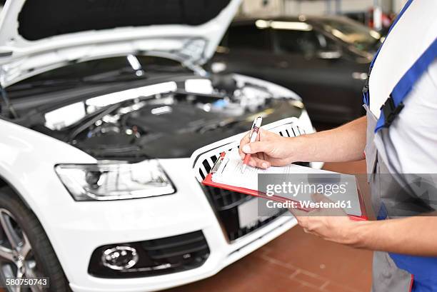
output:
<instances>
[{"instance_id":1,"label":"bare forearm and hand writing with a pen","mask_svg":"<svg viewBox=\"0 0 437 292\"><path fill-rule=\"evenodd\" d=\"M240 156L251 155L250 166L268 168L295 161L356 161L364 158L366 117L336 129L286 138L260 129L258 141L249 143L248 134L241 139ZM248 146L248 147L244 147Z\"/></svg>"}]
</instances>

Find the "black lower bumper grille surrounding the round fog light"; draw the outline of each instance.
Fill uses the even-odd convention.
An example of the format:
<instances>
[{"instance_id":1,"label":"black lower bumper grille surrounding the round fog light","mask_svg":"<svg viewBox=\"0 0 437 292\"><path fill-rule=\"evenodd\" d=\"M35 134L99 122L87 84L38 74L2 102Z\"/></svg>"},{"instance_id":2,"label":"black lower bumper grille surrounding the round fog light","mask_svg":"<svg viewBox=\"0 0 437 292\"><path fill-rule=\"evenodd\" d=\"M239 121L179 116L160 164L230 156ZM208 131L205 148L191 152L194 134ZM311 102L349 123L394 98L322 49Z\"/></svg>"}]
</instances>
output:
<instances>
[{"instance_id":1,"label":"black lower bumper grille surrounding the round fog light","mask_svg":"<svg viewBox=\"0 0 437 292\"><path fill-rule=\"evenodd\" d=\"M138 253L138 263L131 268L114 270L105 266L102 254L115 246L129 246ZM149 241L114 243L96 248L89 263L89 273L100 278L136 278L159 276L197 268L209 257L209 246L202 231Z\"/></svg>"}]
</instances>

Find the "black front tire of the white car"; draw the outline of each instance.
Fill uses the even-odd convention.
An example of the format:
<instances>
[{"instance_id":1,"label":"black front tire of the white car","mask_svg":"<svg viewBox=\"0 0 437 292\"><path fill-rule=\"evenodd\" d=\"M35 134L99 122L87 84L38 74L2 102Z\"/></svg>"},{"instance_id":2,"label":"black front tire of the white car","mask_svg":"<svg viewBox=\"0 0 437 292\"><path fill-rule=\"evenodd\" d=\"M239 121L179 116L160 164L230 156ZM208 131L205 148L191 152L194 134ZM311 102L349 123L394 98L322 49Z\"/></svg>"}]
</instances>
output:
<instances>
[{"instance_id":1,"label":"black front tire of the white car","mask_svg":"<svg viewBox=\"0 0 437 292\"><path fill-rule=\"evenodd\" d=\"M46 236L44 228L34 213L21 201L21 198L8 187L0 188L0 211L6 212L4 210L9 211L14 217L17 232L19 233L21 231L21 234L24 233L26 238L28 238L31 251L27 253L28 256L26 257L31 257L31 261L36 263L35 271L37 272L37 276L49 278L49 288L42 289L42 291L71 292L69 281L61 268L61 264L56 257L49 238ZM0 216L4 216L3 214L4 213L0 213ZM0 222L0 242L9 244L8 241L5 241L7 240L5 234ZM0 281L5 281L4 277L4 271L0 270ZM4 286L4 283L2 284L2 286ZM8 291L7 288L6 291ZM26 291L26 289L22 289L21 291Z\"/></svg>"}]
</instances>

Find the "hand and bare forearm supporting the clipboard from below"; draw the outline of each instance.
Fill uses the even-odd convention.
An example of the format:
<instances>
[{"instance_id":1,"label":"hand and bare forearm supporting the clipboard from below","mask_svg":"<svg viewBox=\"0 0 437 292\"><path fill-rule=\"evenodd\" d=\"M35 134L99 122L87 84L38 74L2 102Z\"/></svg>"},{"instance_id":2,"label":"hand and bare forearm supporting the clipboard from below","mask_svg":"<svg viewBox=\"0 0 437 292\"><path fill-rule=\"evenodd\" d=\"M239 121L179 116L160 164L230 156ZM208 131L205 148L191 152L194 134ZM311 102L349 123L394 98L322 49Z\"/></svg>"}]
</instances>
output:
<instances>
[{"instance_id":1,"label":"hand and bare forearm supporting the clipboard from below","mask_svg":"<svg viewBox=\"0 0 437 292\"><path fill-rule=\"evenodd\" d=\"M320 194L314 195L313 200L330 201ZM303 231L327 241L371 251L437 256L436 212L390 220L352 221L342 209L290 211Z\"/></svg>"}]
</instances>

